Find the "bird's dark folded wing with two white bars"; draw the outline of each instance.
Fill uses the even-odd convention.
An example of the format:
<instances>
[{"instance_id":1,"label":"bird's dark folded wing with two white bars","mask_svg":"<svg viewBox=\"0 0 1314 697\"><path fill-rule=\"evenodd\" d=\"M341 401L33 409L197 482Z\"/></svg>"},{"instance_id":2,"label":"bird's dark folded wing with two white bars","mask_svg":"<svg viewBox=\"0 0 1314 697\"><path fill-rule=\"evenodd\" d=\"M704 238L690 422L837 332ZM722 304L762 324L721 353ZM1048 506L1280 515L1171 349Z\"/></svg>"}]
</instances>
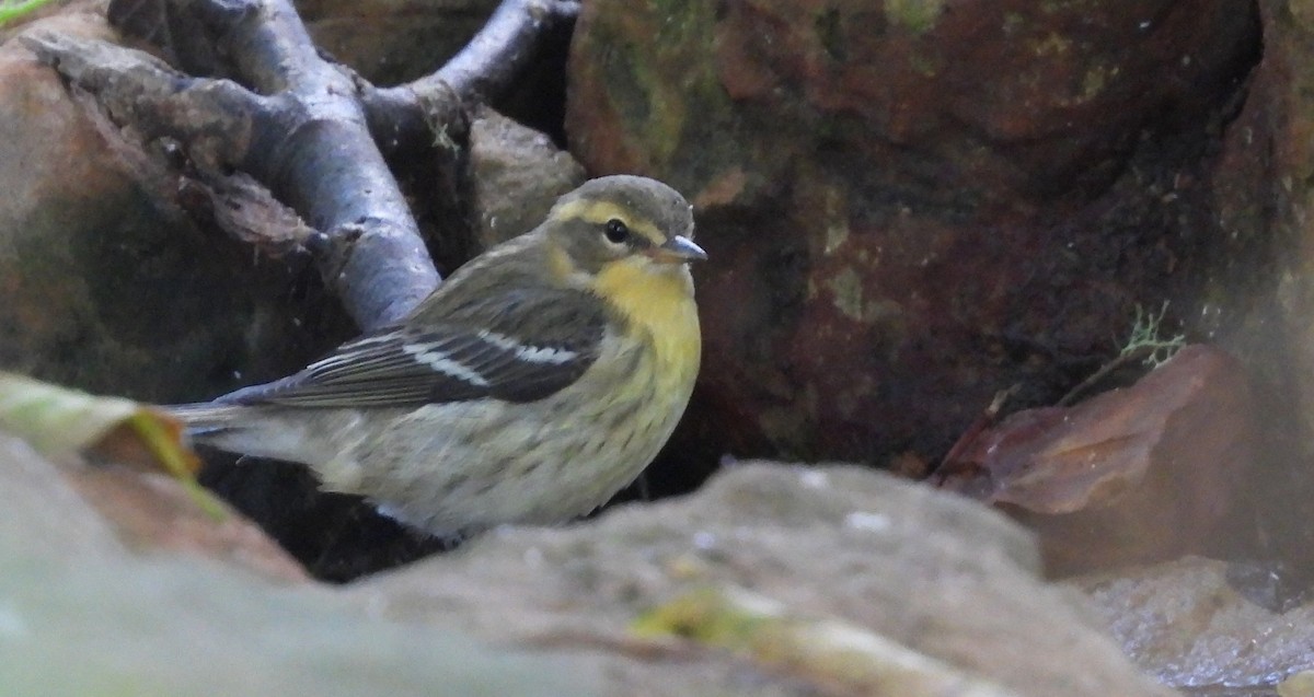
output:
<instances>
[{"instance_id":1,"label":"bird's dark folded wing with two white bars","mask_svg":"<svg viewBox=\"0 0 1314 697\"><path fill-rule=\"evenodd\" d=\"M598 357L607 318L595 298L583 295L543 286L489 289L456 307L427 310L431 322L348 341L294 375L219 402L418 407L486 396L543 399Z\"/></svg>"}]
</instances>

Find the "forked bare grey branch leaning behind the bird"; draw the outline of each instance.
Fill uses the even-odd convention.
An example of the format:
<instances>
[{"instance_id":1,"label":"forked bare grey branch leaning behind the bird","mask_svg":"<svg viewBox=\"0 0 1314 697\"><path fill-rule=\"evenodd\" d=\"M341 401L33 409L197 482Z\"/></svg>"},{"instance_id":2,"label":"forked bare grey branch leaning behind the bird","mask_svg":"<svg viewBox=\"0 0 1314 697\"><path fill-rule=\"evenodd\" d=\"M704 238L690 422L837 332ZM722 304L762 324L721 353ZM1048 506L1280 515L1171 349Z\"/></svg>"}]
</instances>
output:
<instances>
[{"instance_id":1,"label":"forked bare grey branch leaning behind the bird","mask_svg":"<svg viewBox=\"0 0 1314 697\"><path fill-rule=\"evenodd\" d=\"M325 60L289 0L110 3L125 33L158 42L188 72L233 81L96 42L43 35L29 45L118 123L181 142L212 182L239 169L268 186L322 234L307 238L321 274L371 329L439 284L381 150L431 148L440 134L464 142L468 106L507 89L577 12L573 0L505 0L447 66L386 89Z\"/></svg>"}]
</instances>

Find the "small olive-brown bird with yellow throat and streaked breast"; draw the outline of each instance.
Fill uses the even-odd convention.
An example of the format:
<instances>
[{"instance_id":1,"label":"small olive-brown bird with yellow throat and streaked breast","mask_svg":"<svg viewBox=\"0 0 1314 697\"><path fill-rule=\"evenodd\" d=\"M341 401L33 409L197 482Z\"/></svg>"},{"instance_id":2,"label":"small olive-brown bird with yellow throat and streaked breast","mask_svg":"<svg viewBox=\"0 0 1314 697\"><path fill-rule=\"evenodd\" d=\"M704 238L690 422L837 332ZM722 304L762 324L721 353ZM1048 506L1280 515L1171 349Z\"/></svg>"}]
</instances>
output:
<instances>
[{"instance_id":1,"label":"small olive-brown bird with yellow throat and streaked breast","mask_svg":"<svg viewBox=\"0 0 1314 697\"><path fill-rule=\"evenodd\" d=\"M675 189L593 179L399 322L170 411L192 442L304 463L435 536L565 522L632 483L685 412L706 259Z\"/></svg>"}]
</instances>

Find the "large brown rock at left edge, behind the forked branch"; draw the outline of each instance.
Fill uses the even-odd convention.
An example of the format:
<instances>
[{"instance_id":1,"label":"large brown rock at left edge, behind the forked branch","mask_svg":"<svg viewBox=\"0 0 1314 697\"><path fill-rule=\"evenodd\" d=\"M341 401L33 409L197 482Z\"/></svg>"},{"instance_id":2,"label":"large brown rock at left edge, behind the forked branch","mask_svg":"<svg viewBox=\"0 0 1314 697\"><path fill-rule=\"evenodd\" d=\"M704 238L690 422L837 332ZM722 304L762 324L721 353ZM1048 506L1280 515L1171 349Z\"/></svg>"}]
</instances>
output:
<instances>
[{"instance_id":1,"label":"large brown rock at left edge, behind the forked branch","mask_svg":"<svg viewBox=\"0 0 1314 697\"><path fill-rule=\"evenodd\" d=\"M109 38L104 17L28 25ZM0 368L147 402L285 374L318 347L283 263L152 202L118 131L18 42L0 45ZM240 282L235 278L242 278ZM242 375L235 373L240 371Z\"/></svg>"}]
</instances>

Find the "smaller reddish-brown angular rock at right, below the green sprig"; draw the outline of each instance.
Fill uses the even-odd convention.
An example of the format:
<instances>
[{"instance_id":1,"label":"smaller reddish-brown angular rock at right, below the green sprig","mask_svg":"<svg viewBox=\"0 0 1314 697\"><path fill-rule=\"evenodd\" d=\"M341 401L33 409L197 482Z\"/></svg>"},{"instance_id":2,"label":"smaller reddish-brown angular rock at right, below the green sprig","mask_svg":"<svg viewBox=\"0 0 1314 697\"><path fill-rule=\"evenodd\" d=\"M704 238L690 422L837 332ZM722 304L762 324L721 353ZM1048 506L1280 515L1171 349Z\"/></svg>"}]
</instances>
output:
<instances>
[{"instance_id":1,"label":"smaller reddish-brown angular rock at right, below the green sprig","mask_svg":"<svg viewBox=\"0 0 1314 697\"><path fill-rule=\"evenodd\" d=\"M1197 345L1131 387L1013 413L941 475L1037 530L1051 574L1074 574L1223 551L1256 440L1244 370Z\"/></svg>"}]
</instances>

